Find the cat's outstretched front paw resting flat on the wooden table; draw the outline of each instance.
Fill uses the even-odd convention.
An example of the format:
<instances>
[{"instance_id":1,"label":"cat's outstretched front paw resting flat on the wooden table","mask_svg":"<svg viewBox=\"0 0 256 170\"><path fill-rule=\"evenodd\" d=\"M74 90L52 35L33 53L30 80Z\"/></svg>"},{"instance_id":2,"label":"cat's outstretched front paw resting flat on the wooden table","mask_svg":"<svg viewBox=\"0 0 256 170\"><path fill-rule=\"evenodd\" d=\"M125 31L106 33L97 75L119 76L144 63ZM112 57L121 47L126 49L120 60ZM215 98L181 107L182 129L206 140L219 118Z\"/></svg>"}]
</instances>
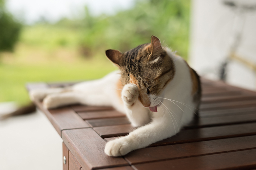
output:
<instances>
[{"instance_id":1,"label":"cat's outstretched front paw resting flat on the wooden table","mask_svg":"<svg viewBox=\"0 0 256 170\"><path fill-rule=\"evenodd\" d=\"M122 156L132 151L131 146L126 141L125 137L107 142L105 153L109 156Z\"/></svg>"}]
</instances>

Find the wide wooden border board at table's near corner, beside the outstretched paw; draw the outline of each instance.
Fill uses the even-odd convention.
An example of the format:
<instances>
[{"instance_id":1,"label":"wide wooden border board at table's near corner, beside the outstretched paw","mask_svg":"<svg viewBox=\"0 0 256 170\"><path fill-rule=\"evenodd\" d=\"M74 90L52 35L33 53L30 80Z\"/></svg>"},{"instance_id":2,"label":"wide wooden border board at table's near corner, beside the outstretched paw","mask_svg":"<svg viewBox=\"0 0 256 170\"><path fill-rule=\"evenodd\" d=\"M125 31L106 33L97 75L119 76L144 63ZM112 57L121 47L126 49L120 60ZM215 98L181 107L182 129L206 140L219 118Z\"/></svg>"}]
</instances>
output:
<instances>
[{"instance_id":1,"label":"wide wooden border board at table's near corner, beside the outstretched paw","mask_svg":"<svg viewBox=\"0 0 256 170\"><path fill-rule=\"evenodd\" d=\"M128 165L122 157L105 154L106 142L92 128L62 131L62 139L84 170Z\"/></svg>"}]
</instances>

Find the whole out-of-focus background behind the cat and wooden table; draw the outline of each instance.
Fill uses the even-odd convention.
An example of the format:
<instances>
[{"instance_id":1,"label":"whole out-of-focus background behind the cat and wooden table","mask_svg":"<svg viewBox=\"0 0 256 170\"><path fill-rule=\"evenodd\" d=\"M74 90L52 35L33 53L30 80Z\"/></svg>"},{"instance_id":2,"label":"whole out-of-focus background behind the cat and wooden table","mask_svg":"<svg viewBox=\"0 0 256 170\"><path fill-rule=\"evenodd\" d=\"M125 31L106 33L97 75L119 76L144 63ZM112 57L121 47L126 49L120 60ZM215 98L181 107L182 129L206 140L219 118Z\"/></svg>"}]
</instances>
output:
<instances>
[{"instance_id":1,"label":"whole out-of-focus background behind the cat and wooden table","mask_svg":"<svg viewBox=\"0 0 256 170\"><path fill-rule=\"evenodd\" d=\"M256 89L255 0L0 0L0 114L29 102L27 82L103 77L117 69L106 49L151 35L200 75ZM62 169L43 114L0 122L0 136L0 169Z\"/></svg>"}]
</instances>

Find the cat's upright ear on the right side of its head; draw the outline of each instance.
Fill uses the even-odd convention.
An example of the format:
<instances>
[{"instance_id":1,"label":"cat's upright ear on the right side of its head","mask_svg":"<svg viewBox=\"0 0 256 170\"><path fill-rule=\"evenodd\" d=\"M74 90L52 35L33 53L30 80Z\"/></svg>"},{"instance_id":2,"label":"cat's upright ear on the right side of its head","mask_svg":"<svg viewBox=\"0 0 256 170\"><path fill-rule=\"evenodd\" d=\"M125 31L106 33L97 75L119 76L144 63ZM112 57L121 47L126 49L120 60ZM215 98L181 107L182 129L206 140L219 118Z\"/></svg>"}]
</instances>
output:
<instances>
[{"instance_id":1,"label":"cat's upright ear on the right side of its head","mask_svg":"<svg viewBox=\"0 0 256 170\"><path fill-rule=\"evenodd\" d=\"M156 57L158 57L164 53L161 42L160 42L159 38L157 38L156 36L151 37L150 47L151 47L151 49L150 49L151 54L149 55L148 60L154 60L154 59L156 59Z\"/></svg>"}]
</instances>

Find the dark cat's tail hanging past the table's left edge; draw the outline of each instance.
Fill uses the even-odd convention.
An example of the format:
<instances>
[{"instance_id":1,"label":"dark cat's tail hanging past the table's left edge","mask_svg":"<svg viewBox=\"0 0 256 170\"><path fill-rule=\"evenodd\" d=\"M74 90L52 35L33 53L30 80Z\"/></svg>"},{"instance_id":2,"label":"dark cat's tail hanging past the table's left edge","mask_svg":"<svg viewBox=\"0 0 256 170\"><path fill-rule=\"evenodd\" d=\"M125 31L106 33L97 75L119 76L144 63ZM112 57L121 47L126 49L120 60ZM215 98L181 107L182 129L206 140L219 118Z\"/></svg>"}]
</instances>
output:
<instances>
[{"instance_id":1,"label":"dark cat's tail hanging past the table's left edge","mask_svg":"<svg viewBox=\"0 0 256 170\"><path fill-rule=\"evenodd\" d=\"M36 106L34 103L30 103L28 105L22 106L18 108L16 111L11 112L11 113L6 113L4 115L0 115L0 120L7 119L12 116L17 116L17 115L25 115L25 114L30 114L34 113L36 111Z\"/></svg>"}]
</instances>

